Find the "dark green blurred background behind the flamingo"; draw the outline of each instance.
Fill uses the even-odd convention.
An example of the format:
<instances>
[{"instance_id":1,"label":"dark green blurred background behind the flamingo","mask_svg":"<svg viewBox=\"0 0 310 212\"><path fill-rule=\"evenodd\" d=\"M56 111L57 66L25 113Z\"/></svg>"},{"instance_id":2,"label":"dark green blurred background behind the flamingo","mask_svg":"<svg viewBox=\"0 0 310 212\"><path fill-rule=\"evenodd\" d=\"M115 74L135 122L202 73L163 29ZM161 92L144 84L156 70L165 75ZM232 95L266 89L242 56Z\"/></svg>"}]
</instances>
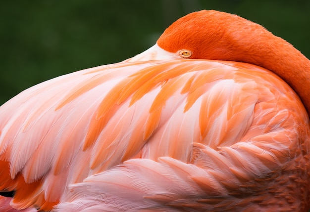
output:
<instances>
[{"instance_id":1,"label":"dark green blurred background behind the flamingo","mask_svg":"<svg viewBox=\"0 0 310 212\"><path fill-rule=\"evenodd\" d=\"M257 22L310 58L309 0L1 1L0 104L53 77L132 57L201 9Z\"/></svg>"}]
</instances>

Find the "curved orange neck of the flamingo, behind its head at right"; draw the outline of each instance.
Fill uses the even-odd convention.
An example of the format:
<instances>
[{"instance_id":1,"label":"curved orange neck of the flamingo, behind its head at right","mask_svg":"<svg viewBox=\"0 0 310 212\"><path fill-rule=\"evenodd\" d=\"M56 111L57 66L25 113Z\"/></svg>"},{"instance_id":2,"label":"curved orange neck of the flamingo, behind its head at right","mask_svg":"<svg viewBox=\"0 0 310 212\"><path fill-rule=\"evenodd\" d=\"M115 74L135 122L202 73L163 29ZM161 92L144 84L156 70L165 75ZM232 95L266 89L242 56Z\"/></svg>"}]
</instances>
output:
<instances>
[{"instance_id":1,"label":"curved orange neck of the flamingo, behind its head at right","mask_svg":"<svg viewBox=\"0 0 310 212\"><path fill-rule=\"evenodd\" d=\"M251 56L244 62L264 67L281 77L299 95L310 117L310 60L283 39L269 32L261 35L264 36L266 42L250 45Z\"/></svg>"}]
</instances>

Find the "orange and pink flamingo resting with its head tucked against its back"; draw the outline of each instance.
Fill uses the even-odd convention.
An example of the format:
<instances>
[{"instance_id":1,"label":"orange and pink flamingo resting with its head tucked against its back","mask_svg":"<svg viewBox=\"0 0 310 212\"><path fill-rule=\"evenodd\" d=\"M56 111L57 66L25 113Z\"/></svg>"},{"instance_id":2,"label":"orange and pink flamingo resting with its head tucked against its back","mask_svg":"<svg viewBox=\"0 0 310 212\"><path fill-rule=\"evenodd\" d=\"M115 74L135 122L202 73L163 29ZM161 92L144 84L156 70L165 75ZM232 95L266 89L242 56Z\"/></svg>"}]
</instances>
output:
<instances>
[{"instance_id":1,"label":"orange and pink flamingo resting with its head tucked against its back","mask_svg":"<svg viewBox=\"0 0 310 212\"><path fill-rule=\"evenodd\" d=\"M141 54L0 107L0 209L306 212L309 73L262 26L190 13Z\"/></svg>"}]
</instances>

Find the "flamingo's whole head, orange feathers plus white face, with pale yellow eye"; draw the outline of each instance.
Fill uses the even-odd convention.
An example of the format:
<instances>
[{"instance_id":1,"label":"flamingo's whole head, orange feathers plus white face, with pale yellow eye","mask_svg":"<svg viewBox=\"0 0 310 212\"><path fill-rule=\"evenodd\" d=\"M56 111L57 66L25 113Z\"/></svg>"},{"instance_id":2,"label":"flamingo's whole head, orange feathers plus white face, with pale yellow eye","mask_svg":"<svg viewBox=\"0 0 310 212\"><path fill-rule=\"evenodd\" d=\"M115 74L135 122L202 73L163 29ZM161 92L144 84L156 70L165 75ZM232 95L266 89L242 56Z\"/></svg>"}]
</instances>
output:
<instances>
[{"instance_id":1,"label":"flamingo's whole head, orange feathers plus white face, with pale yellow eye","mask_svg":"<svg viewBox=\"0 0 310 212\"><path fill-rule=\"evenodd\" d=\"M257 30L267 32L237 15L215 10L193 12L171 24L154 46L130 61L214 59L253 63L245 59L249 50L246 44L251 45L249 32Z\"/></svg>"}]
</instances>

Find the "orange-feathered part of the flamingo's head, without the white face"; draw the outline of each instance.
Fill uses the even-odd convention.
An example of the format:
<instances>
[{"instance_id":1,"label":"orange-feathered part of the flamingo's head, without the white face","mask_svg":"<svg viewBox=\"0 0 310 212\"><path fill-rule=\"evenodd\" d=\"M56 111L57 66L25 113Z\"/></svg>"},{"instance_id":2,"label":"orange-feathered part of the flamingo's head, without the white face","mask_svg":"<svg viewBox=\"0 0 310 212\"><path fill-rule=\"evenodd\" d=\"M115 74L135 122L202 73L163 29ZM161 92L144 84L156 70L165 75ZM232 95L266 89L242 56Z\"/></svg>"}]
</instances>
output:
<instances>
[{"instance_id":1,"label":"orange-feathered part of the flamingo's head, without the white face","mask_svg":"<svg viewBox=\"0 0 310 212\"><path fill-rule=\"evenodd\" d=\"M254 43L254 40L265 42L266 37L274 36L262 26L240 16L202 10L175 21L160 36L157 44L169 52L187 50L191 54L188 58L192 59L255 63L253 57L259 55L253 47L259 43Z\"/></svg>"}]
</instances>

